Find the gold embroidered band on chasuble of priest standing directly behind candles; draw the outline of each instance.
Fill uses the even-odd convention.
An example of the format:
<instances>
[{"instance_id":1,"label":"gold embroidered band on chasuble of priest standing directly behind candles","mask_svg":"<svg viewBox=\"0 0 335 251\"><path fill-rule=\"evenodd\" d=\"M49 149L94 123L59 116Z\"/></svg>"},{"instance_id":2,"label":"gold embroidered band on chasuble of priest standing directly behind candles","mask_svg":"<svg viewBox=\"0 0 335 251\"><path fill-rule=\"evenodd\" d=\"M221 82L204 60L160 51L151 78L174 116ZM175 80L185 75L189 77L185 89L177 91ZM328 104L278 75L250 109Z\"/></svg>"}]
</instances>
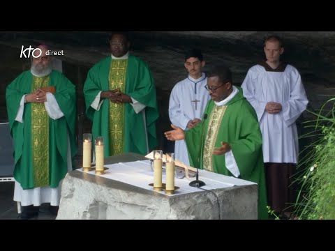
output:
<instances>
[{"instance_id":1,"label":"gold embroidered band on chasuble of priest standing directly behind candles","mask_svg":"<svg viewBox=\"0 0 335 251\"><path fill-rule=\"evenodd\" d=\"M119 89L124 93L126 84L127 59L112 60L108 81L110 90ZM124 103L110 102L110 156L121 154L124 150Z\"/></svg>"}]
</instances>

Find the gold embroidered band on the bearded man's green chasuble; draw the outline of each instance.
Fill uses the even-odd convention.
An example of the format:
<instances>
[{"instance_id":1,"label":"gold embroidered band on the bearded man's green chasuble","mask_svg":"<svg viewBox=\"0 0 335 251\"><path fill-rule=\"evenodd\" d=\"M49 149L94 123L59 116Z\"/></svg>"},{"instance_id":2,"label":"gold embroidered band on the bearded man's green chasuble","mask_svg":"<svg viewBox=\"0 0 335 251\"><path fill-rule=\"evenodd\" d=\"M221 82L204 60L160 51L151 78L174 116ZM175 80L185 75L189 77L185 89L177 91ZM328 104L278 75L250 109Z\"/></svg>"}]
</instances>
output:
<instances>
[{"instance_id":1,"label":"gold embroidered band on the bearded man's green chasuble","mask_svg":"<svg viewBox=\"0 0 335 251\"><path fill-rule=\"evenodd\" d=\"M49 85L49 76L33 77L31 90ZM31 152L33 155L34 187L49 184L49 115L44 103L31 102Z\"/></svg>"}]
</instances>

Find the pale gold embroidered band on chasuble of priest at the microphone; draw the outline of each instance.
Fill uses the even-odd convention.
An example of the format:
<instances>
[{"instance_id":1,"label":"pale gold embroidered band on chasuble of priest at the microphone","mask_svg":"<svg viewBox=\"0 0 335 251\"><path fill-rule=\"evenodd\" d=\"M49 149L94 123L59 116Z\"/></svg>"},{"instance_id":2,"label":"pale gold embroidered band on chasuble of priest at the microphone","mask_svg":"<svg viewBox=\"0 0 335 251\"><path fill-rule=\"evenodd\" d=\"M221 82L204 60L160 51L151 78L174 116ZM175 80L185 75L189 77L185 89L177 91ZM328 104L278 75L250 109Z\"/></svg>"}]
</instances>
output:
<instances>
[{"instance_id":1,"label":"pale gold embroidered band on chasuble of priest at the microphone","mask_svg":"<svg viewBox=\"0 0 335 251\"><path fill-rule=\"evenodd\" d=\"M206 139L204 140L204 158L203 158L203 169L213 172L213 150L215 142L218 137L218 130L221 126L223 115L225 114L225 105L214 105L211 115L209 116L208 128Z\"/></svg>"}]
</instances>

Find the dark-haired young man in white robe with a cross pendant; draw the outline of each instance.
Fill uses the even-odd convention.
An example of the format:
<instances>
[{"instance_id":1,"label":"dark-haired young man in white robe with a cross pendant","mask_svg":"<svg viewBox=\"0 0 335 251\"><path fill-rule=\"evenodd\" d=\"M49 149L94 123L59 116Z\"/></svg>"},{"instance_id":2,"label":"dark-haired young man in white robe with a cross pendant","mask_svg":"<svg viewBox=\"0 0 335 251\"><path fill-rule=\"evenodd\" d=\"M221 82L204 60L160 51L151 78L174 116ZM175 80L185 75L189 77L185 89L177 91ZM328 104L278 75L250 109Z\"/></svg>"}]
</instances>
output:
<instances>
[{"instance_id":1,"label":"dark-haired young man in white robe with a cross pendant","mask_svg":"<svg viewBox=\"0 0 335 251\"><path fill-rule=\"evenodd\" d=\"M207 77L202 73L204 64L200 50L192 49L186 52L184 66L188 70L188 77L178 82L171 92L170 121L183 130L193 128L201 121L204 107L210 99L208 91L204 88L207 84ZM174 153L178 160L190 165L184 139L175 142Z\"/></svg>"}]
</instances>

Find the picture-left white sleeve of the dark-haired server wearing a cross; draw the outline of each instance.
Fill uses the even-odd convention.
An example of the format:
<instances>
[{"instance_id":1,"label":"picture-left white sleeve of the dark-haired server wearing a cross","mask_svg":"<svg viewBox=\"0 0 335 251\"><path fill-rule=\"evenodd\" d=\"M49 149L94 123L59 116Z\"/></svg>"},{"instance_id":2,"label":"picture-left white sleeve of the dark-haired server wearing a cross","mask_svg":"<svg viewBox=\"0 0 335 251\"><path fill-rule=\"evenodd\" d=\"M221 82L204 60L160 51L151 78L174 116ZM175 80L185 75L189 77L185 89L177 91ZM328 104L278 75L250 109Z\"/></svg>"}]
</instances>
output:
<instances>
[{"instance_id":1,"label":"picture-left white sleeve of the dark-haired server wearing a cross","mask_svg":"<svg viewBox=\"0 0 335 251\"><path fill-rule=\"evenodd\" d=\"M169 117L174 126L178 126L182 130L186 130L189 119L186 118L184 112L182 112L180 109L180 100L178 94L177 86L174 86L171 91L169 101Z\"/></svg>"}]
</instances>

